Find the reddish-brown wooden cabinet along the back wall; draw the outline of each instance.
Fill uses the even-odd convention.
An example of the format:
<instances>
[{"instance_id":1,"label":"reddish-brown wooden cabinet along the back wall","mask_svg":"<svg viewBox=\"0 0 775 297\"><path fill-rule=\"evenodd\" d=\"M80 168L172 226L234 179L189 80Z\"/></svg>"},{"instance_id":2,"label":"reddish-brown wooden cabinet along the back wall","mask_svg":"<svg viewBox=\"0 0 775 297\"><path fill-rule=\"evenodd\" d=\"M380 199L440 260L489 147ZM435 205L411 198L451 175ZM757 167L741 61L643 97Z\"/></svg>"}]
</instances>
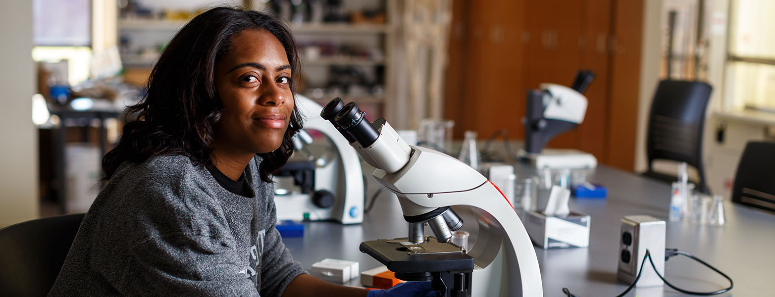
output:
<instances>
[{"instance_id":1,"label":"reddish-brown wooden cabinet along the back wall","mask_svg":"<svg viewBox=\"0 0 775 297\"><path fill-rule=\"evenodd\" d=\"M456 1L449 44L445 115L455 137L506 128L522 139L525 94L543 82L570 85L597 74L577 130L549 147L594 154L632 170L638 105L642 0ZM611 50L614 49L614 50ZM618 49L618 50L616 50Z\"/></svg>"}]
</instances>

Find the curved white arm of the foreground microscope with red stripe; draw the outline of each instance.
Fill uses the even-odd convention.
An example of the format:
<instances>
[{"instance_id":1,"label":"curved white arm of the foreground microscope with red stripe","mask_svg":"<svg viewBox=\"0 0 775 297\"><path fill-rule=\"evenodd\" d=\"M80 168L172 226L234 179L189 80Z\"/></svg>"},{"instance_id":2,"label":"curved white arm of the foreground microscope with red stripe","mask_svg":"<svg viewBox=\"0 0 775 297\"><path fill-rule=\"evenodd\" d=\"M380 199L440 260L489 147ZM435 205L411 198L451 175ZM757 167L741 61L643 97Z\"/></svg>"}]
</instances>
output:
<instances>
[{"instance_id":1,"label":"curved white arm of the foreground microscope with red stripe","mask_svg":"<svg viewBox=\"0 0 775 297\"><path fill-rule=\"evenodd\" d=\"M543 295L536 251L501 191L453 157L425 147L412 148L414 154L401 171L373 174L396 193L405 217L450 205L460 212L470 210L477 216L478 232L467 254L474 257L477 268L487 268L503 249L501 295Z\"/></svg>"}]
</instances>

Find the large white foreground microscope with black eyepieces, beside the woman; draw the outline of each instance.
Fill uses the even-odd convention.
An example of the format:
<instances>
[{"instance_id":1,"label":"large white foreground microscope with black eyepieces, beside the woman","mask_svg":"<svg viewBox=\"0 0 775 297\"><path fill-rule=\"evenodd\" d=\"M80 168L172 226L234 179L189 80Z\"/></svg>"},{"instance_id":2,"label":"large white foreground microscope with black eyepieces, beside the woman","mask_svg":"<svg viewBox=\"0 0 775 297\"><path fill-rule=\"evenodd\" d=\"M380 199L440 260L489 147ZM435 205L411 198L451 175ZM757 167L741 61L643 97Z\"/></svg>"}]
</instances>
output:
<instances>
[{"instance_id":1,"label":"large white foreground microscope with black eyepieces, beside the woman","mask_svg":"<svg viewBox=\"0 0 775 297\"><path fill-rule=\"evenodd\" d=\"M336 98L321 116L377 168L372 175L398 196L408 222L408 237L363 242L363 253L397 278L431 281L443 296L543 296L528 233L487 178L446 154L409 146L384 119L370 123L353 102L343 105ZM463 226L456 212L477 218L477 239L470 250L449 243L452 232ZM425 235L425 223L436 237Z\"/></svg>"}]
</instances>

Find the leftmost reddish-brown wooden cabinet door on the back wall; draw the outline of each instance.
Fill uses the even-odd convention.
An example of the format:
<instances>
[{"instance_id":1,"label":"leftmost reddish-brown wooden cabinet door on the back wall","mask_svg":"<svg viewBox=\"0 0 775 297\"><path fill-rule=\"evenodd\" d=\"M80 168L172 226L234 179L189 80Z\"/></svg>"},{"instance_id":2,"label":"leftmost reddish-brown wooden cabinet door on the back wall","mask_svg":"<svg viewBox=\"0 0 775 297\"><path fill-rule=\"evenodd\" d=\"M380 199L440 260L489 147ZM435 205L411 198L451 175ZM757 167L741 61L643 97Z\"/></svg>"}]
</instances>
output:
<instances>
[{"instance_id":1,"label":"leftmost reddish-brown wooden cabinet door on the back wall","mask_svg":"<svg viewBox=\"0 0 775 297\"><path fill-rule=\"evenodd\" d=\"M522 138L525 1L453 2L445 115L454 136L507 128Z\"/></svg>"}]
</instances>

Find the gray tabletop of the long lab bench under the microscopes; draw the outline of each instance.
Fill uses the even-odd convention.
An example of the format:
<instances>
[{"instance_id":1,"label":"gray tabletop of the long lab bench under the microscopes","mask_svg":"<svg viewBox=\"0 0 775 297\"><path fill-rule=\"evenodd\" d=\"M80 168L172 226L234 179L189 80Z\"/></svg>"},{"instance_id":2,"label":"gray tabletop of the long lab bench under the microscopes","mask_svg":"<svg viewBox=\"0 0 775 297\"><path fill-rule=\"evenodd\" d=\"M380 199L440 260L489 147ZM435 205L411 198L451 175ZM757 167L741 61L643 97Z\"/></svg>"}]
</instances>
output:
<instances>
[{"instance_id":1,"label":"gray tabletop of the long lab bench under the microscopes","mask_svg":"<svg viewBox=\"0 0 775 297\"><path fill-rule=\"evenodd\" d=\"M364 171L368 171L364 168ZM591 238L588 248L543 250L536 247L543 292L546 296L563 296L570 288L579 297L615 296L627 287L616 281L618 233L623 216L646 214L667 219L670 186L638 175L600 166L590 180L608 187L608 199L571 199L571 209L591 215ZM369 192L376 181L369 178ZM370 199L371 195L369 195ZM729 199L729 197L727 197ZM732 277L735 288L720 296L773 295L775 276L775 215L747 206L725 202L725 226L694 226L687 222L667 223L667 247L694 254ZM380 265L360 253L364 240L406 237L407 225L393 195L383 193L360 225L331 222L305 223L304 237L291 237L284 242L294 259L310 269L325 257L360 262L364 271ZM667 261L667 280L680 288L715 291L728 283L701 264L677 256ZM358 285L360 280L347 285ZM680 296L668 288L634 289L628 296Z\"/></svg>"}]
</instances>

